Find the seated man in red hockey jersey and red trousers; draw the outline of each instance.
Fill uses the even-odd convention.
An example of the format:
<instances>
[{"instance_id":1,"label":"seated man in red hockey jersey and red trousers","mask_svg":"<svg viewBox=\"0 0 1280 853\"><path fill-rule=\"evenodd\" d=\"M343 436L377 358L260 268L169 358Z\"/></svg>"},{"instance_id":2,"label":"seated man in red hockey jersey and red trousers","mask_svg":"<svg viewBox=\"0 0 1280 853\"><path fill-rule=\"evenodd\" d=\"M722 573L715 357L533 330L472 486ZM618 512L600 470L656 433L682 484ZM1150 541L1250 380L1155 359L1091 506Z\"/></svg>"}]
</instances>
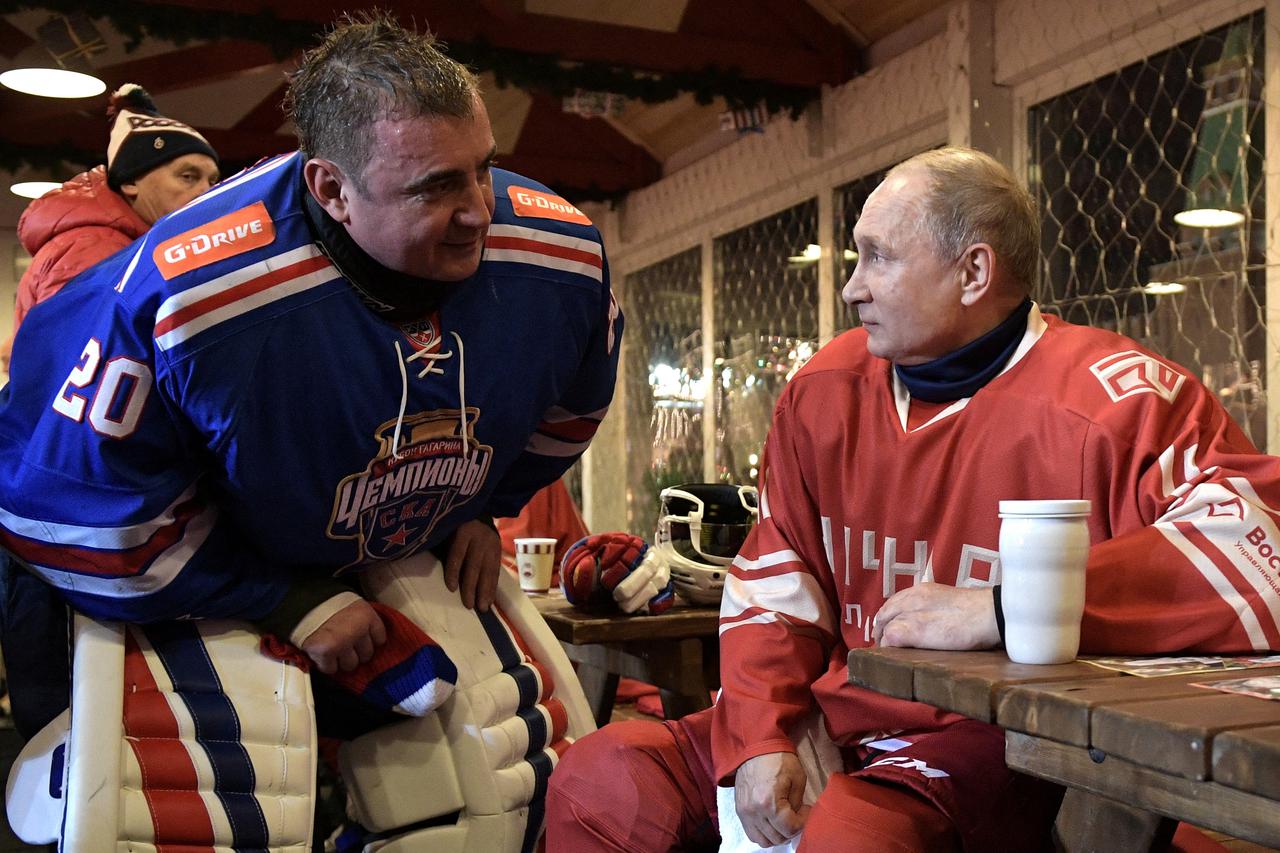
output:
<instances>
[{"instance_id":1,"label":"seated man in red hockey jersey and red trousers","mask_svg":"<svg viewBox=\"0 0 1280 853\"><path fill-rule=\"evenodd\" d=\"M721 825L764 847L803 830L800 850L1044 848L1060 792L1005 767L997 727L846 680L849 648L1000 644L1000 500L1092 501L1082 652L1280 648L1280 460L1183 368L1042 315L1038 222L964 149L872 193L844 293L863 328L774 410L760 523L724 585L721 697L579 742L552 777L550 848L685 849ZM814 712L829 780L796 756Z\"/></svg>"}]
</instances>

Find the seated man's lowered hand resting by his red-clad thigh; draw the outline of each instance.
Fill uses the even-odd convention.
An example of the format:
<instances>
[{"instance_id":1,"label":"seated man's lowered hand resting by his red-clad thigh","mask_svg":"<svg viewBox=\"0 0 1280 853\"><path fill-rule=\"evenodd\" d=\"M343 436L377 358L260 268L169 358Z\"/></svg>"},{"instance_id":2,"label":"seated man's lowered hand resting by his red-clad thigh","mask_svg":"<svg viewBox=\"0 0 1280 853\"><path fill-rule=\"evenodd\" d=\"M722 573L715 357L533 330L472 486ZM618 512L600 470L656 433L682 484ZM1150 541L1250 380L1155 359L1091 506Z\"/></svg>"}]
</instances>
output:
<instances>
[{"instance_id":1,"label":"seated man's lowered hand resting by his red-clad thigh","mask_svg":"<svg viewBox=\"0 0 1280 853\"><path fill-rule=\"evenodd\" d=\"M737 768L733 798L746 836L760 847L782 844L804 829L804 768L791 752L748 758Z\"/></svg>"}]
</instances>

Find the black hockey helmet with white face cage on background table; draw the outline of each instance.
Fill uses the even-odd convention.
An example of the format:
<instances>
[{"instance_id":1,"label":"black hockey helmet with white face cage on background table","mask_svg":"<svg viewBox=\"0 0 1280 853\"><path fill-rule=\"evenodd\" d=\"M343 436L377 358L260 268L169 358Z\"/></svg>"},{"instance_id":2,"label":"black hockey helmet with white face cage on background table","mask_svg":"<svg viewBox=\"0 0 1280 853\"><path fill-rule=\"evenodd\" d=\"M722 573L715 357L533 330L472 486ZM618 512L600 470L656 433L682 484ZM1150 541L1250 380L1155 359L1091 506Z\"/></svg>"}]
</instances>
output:
<instances>
[{"instance_id":1,"label":"black hockey helmet with white face cage on background table","mask_svg":"<svg viewBox=\"0 0 1280 853\"><path fill-rule=\"evenodd\" d=\"M671 567L676 593L718 605L724 573L759 516L755 487L686 483L660 493L654 546Z\"/></svg>"}]
</instances>

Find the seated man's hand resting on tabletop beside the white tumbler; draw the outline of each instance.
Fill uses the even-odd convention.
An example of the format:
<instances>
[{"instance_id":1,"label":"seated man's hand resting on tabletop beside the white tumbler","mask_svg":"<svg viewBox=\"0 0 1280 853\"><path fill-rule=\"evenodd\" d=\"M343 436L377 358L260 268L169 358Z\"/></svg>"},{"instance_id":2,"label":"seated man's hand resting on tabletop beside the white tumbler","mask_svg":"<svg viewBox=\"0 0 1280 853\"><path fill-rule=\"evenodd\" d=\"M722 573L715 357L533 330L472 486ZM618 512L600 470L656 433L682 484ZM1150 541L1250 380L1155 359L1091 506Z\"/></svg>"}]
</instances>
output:
<instances>
[{"instance_id":1,"label":"seated man's hand resting on tabletop beside the white tumbler","mask_svg":"<svg viewBox=\"0 0 1280 853\"><path fill-rule=\"evenodd\" d=\"M916 584L890 597L876 615L881 646L974 649L1000 644L989 587Z\"/></svg>"}]
</instances>

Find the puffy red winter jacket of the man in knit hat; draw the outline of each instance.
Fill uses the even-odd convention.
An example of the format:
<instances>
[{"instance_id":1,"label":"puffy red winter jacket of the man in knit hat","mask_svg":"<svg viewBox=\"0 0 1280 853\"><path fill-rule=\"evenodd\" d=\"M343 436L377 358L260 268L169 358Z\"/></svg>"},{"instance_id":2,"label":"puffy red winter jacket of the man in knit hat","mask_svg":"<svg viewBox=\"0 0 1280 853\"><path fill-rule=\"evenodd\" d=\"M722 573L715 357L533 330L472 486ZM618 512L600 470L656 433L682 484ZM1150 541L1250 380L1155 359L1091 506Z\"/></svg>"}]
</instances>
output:
<instances>
[{"instance_id":1,"label":"puffy red winter jacket of the man in knit hat","mask_svg":"<svg viewBox=\"0 0 1280 853\"><path fill-rule=\"evenodd\" d=\"M13 330L31 306L146 231L124 196L106 186L106 167L82 172L32 201L18 220L18 240L35 257L18 283Z\"/></svg>"}]
</instances>

